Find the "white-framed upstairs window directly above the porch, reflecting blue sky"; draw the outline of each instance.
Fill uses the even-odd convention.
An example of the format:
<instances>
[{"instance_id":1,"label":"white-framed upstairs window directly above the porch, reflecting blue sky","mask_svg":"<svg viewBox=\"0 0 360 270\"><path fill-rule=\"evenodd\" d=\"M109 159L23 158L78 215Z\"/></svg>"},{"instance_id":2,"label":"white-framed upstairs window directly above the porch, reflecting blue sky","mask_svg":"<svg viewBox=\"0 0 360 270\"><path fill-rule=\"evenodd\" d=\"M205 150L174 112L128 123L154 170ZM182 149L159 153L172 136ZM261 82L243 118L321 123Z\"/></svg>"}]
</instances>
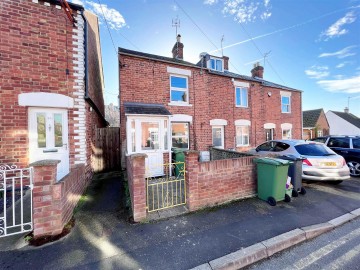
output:
<instances>
[{"instance_id":1,"label":"white-framed upstairs window directly above the porch, reflecting blue sky","mask_svg":"<svg viewBox=\"0 0 360 270\"><path fill-rule=\"evenodd\" d=\"M189 102L188 78L170 75L170 101L173 103Z\"/></svg>"}]
</instances>

